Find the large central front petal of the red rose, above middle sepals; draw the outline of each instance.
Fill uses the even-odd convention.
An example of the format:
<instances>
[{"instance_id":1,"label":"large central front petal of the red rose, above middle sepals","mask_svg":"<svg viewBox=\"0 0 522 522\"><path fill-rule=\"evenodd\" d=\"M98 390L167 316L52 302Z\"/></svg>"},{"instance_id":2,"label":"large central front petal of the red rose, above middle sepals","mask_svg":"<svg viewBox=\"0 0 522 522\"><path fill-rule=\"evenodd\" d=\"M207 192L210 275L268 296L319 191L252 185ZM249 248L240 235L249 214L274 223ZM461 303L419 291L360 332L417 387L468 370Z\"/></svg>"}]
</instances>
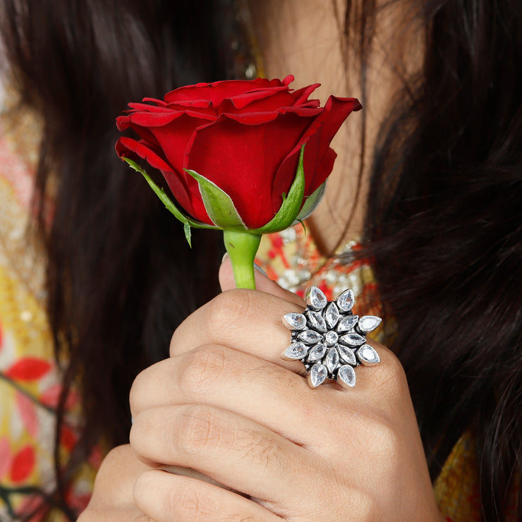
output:
<instances>
[{"instance_id":1,"label":"large central front petal of the red rose, above middle sepals","mask_svg":"<svg viewBox=\"0 0 522 522\"><path fill-rule=\"evenodd\" d=\"M245 123L247 116L249 122ZM269 121L262 121L268 117ZM258 121L262 124L256 124ZM229 194L248 228L260 228L281 206L280 201L277 209L272 205L274 177L288 150L295 147L310 121L311 117L292 112L276 114L275 118L273 113L223 114L215 123L195 131L184 166ZM212 154L208 154L209 150ZM238 173L244 174L238 176ZM294 169L287 180L289 186L295 176ZM280 200L281 193L278 197Z\"/></svg>"}]
</instances>

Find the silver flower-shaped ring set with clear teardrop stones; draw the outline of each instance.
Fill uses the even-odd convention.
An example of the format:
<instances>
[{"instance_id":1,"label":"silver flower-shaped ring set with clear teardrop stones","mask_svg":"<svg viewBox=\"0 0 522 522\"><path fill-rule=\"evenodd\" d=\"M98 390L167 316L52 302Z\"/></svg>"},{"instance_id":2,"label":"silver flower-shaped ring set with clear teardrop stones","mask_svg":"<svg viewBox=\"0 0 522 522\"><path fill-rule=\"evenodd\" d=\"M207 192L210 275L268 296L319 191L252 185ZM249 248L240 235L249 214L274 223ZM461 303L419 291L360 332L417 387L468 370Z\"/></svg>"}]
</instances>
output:
<instances>
[{"instance_id":1,"label":"silver flower-shaped ring set with clear teardrop stones","mask_svg":"<svg viewBox=\"0 0 522 522\"><path fill-rule=\"evenodd\" d=\"M351 289L339 294L335 301L327 301L317 286L310 286L305 297L307 306L302 314L290 312L283 316L284 326L292 332L292 342L281 357L301 360L310 388L317 388L328 379L353 388L354 368L381 362L375 349L366 344L366 334L379 326L381 318L354 315L356 298Z\"/></svg>"}]
</instances>

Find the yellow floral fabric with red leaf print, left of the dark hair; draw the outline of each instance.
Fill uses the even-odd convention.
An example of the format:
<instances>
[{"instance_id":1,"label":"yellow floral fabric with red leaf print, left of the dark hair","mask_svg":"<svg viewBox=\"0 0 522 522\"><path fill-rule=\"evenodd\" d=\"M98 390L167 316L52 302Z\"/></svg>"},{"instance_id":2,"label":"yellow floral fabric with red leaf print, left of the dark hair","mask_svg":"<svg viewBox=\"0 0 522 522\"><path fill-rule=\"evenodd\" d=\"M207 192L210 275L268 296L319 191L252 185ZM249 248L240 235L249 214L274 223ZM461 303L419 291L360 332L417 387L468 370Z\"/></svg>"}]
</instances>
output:
<instances>
[{"instance_id":1,"label":"yellow floral fabric with red leaf print, left of the dark hair","mask_svg":"<svg viewBox=\"0 0 522 522\"><path fill-rule=\"evenodd\" d=\"M28 488L54 487L55 408L61 390L44 312L44 260L27 233L35 172L37 119L23 112L0 118L0 520L41 500ZM68 399L61 434L67 456L80 420L78 396ZM92 489L99 458L87 463L67 492L78 509ZM37 521L38 518L33 518ZM52 520L65 520L53 514Z\"/></svg>"}]
</instances>

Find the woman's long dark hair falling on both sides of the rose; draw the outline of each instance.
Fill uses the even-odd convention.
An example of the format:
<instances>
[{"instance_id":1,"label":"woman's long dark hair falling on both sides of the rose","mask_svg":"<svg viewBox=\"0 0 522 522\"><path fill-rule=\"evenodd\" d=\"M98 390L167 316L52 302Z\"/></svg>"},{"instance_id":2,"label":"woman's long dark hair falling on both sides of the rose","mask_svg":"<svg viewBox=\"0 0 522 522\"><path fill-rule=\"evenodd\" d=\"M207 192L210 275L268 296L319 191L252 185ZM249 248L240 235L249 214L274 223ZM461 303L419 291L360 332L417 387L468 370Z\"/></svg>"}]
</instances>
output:
<instances>
[{"instance_id":1,"label":"woman's long dark hair falling on both sides of the rose","mask_svg":"<svg viewBox=\"0 0 522 522\"><path fill-rule=\"evenodd\" d=\"M432 477L473 430L482 516L492 521L504 516L506 492L520 486L521 473L522 7L417 5L425 61L420 75L404 78L377 142L368 250L398 323L392 347L406 368ZM116 158L114 117L130 100L226 78L230 53L215 42L224 40L229 3L0 6L18 88L45 122L35 204L56 353L68 361L57 422L77 380L85 422L71 461L56 454L58 494L49 502L73 519L63 499L71 473L100 439L126 442L133 377L167 355L186 306L217 290L217 234L195 239L189 252L177 221ZM374 17L374 1L347 2L363 102ZM54 182L47 230L42 195Z\"/></svg>"}]
</instances>

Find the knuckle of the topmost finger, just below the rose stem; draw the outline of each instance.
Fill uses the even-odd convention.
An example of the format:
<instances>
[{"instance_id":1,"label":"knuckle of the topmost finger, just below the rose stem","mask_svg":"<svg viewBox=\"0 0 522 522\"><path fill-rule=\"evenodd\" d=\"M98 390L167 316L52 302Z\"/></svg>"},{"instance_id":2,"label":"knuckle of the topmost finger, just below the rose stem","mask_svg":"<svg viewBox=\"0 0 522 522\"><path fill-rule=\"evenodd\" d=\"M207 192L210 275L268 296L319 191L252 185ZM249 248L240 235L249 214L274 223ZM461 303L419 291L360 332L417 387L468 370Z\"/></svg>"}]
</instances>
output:
<instances>
[{"instance_id":1,"label":"knuckle of the topmost finger, just below the rose stem","mask_svg":"<svg viewBox=\"0 0 522 522\"><path fill-rule=\"evenodd\" d=\"M224 334L231 332L238 320L248 316L251 308L250 293L242 289L233 289L220 293L210 301L210 313L207 327L211 332Z\"/></svg>"}]
</instances>

